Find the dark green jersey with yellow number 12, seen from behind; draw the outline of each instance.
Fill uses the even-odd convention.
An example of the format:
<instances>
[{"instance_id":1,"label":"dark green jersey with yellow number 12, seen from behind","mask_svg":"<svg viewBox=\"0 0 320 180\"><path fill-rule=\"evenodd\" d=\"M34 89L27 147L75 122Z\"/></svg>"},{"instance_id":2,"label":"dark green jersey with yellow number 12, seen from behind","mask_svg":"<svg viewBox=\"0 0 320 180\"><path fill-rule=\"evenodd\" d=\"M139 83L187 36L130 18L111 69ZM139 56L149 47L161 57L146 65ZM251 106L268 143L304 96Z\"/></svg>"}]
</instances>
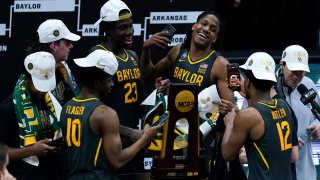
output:
<instances>
[{"instance_id":1,"label":"dark green jersey with yellow number 12, seen from behind","mask_svg":"<svg viewBox=\"0 0 320 180\"><path fill-rule=\"evenodd\" d=\"M291 180L290 160L297 131L288 105L274 99L274 104L257 102L253 108L262 116L265 132L260 139L249 139L245 144L248 179Z\"/></svg>"}]
</instances>

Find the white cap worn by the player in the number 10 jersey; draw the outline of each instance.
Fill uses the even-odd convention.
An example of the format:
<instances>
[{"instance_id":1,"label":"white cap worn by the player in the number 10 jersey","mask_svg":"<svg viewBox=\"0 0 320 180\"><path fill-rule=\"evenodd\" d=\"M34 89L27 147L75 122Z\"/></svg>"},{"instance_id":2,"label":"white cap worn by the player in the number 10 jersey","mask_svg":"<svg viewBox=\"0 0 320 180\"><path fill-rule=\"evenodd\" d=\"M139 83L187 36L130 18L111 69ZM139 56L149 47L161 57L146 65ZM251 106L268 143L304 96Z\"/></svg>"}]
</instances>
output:
<instances>
[{"instance_id":1,"label":"white cap worn by the player in the number 10 jersey","mask_svg":"<svg viewBox=\"0 0 320 180\"><path fill-rule=\"evenodd\" d=\"M114 54L102 49L91 52L85 58L74 59L74 62L80 67L97 67L111 76L118 70L118 61Z\"/></svg>"}]
</instances>

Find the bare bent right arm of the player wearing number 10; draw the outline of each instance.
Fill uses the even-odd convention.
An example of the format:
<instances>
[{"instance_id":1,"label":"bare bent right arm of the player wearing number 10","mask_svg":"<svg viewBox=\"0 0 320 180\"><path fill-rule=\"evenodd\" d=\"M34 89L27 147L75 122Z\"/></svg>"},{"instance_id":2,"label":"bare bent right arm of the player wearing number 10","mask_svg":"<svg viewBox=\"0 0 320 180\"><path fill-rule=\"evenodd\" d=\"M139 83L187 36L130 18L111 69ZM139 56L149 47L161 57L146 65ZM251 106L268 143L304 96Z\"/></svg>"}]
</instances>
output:
<instances>
[{"instance_id":1,"label":"bare bent right arm of the player wearing number 10","mask_svg":"<svg viewBox=\"0 0 320 180\"><path fill-rule=\"evenodd\" d=\"M102 142L105 154L113 169L117 170L128 163L157 133L162 126L144 128L142 137L133 145L126 149L122 149L119 134L119 119L117 113L105 106L98 106L92 115L90 121L93 121L99 127L102 134Z\"/></svg>"}]
</instances>

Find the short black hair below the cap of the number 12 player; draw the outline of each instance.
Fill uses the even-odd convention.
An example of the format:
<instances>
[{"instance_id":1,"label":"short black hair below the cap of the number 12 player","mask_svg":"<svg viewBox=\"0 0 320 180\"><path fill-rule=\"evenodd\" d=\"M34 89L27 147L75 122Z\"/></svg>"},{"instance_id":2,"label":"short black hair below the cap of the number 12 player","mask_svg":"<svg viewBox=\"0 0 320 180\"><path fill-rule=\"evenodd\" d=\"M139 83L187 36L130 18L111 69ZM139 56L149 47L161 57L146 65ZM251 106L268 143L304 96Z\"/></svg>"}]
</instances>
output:
<instances>
[{"instance_id":1,"label":"short black hair below the cap of the number 12 player","mask_svg":"<svg viewBox=\"0 0 320 180\"><path fill-rule=\"evenodd\" d=\"M260 91L270 91L275 82L269 80L260 80L254 77L251 70L245 70L244 76L247 77L253 84L253 86Z\"/></svg>"}]
</instances>

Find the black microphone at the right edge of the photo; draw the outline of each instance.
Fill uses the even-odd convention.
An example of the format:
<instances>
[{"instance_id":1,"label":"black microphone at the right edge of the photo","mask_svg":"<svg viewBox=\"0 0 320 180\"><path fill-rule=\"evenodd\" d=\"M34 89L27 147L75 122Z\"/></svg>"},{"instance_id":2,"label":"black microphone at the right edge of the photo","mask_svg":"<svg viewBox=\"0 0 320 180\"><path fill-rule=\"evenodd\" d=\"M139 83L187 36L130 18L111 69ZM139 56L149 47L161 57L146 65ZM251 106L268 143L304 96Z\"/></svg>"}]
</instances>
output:
<instances>
[{"instance_id":1,"label":"black microphone at the right edge of the photo","mask_svg":"<svg viewBox=\"0 0 320 180\"><path fill-rule=\"evenodd\" d=\"M314 100L317 96L317 92L311 88L307 89L307 87L304 84L300 84L297 87L298 92L301 94L301 102L306 105L308 103L312 106L312 113L317 117L318 120L320 120L320 106L319 104Z\"/></svg>"}]
</instances>

